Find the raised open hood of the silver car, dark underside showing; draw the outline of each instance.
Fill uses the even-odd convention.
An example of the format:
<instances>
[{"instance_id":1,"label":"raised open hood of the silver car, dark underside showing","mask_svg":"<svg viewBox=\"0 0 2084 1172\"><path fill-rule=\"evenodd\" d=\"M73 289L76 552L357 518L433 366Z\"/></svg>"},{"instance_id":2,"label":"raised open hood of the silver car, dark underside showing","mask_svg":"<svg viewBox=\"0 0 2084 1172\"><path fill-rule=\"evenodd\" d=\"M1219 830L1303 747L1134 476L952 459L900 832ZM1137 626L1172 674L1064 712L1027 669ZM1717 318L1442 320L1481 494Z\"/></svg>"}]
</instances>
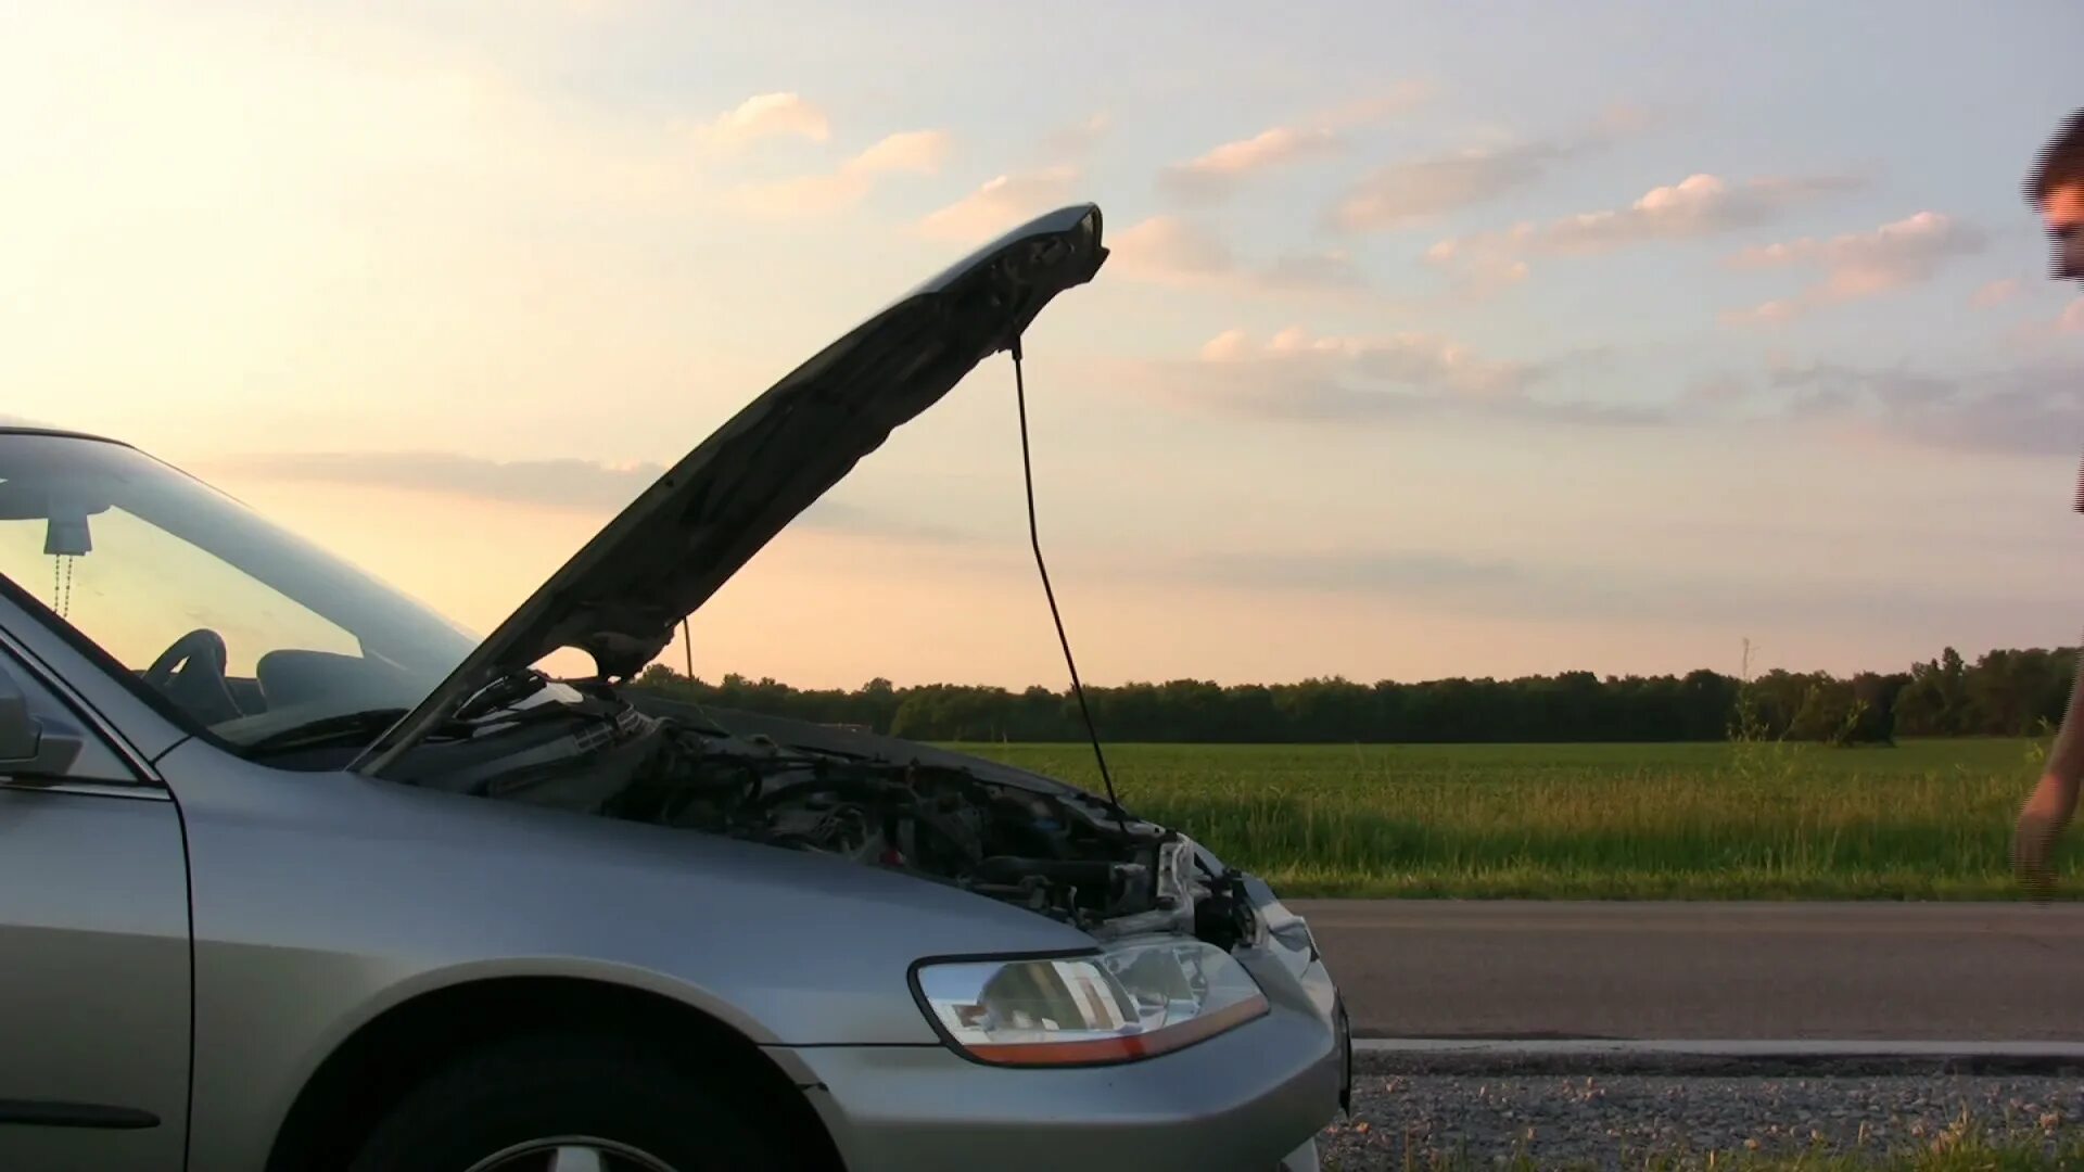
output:
<instances>
[{"instance_id":1,"label":"raised open hood of the silver car, dark underside showing","mask_svg":"<svg viewBox=\"0 0 2084 1172\"><path fill-rule=\"evenodd\" d=\"M627 680L784 526L1044 304L1094 277L1100 209L1038 217L832 342L679 459L356 759L381 772L486 684L575 646Z\"/></svg>"}]
</instances>

